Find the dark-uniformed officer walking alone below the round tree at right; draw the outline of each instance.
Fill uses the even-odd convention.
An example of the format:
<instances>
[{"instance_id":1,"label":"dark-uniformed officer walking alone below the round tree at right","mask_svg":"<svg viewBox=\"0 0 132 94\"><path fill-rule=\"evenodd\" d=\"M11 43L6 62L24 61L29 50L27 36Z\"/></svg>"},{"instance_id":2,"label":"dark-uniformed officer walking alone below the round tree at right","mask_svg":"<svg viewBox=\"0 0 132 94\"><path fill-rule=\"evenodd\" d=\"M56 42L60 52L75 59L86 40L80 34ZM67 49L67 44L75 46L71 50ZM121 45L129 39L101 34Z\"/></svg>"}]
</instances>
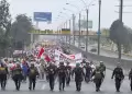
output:
<instances>
[{"instance_id":1,"label":"dark-uniformed officer walking alone below the round tree at right","mask_svg":"<svg viewBox=\"0 0 132 94\"><path fill-rule=\"evenodd\" d=\"M116 81L117 92L120 92L121 82L124 79L123 69L121 68L120 62L118 62L117 68L114 68L111 79L113 79L113 77L114 77L114 81Z\"/></svg>"}]
</instances>

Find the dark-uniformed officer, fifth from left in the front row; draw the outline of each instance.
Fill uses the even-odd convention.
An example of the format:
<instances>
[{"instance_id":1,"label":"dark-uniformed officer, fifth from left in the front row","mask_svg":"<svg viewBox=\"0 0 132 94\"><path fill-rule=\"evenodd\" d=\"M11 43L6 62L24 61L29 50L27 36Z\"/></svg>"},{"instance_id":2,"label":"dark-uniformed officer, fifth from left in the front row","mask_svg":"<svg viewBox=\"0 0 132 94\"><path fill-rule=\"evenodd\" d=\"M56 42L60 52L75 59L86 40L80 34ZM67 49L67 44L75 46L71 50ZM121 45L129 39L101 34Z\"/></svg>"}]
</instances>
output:
<instances>
[{"instance_id":1,"label":"dark-uniformed officer, fifth from left in the front row","mask_svg":"<svg viewBox=\"0 0 132 94\"><path fill-rule=\"evenodd\" d=\"M59 91L64 91L65 81L66 81L66 67L64 62L59 62L59 67L57 68L58 81L59 81Z\"/></svg>"}]
</instances>

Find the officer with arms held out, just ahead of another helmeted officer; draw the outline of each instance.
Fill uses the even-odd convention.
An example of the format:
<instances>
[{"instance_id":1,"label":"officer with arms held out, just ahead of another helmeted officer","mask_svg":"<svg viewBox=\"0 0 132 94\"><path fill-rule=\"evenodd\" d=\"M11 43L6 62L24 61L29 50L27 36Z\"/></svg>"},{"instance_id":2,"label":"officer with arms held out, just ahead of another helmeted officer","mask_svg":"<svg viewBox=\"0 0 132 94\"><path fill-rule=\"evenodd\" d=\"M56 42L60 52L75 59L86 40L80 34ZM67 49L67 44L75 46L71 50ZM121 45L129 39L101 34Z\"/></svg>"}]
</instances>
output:
<instances>
[{"instance_id":1,"label":"officer with arms held out, just ahead of another helmeted officer","mask_svg":"<svg viewBox=\"0 0 132 94\"><path fill-rule=\"evenodd\" d=\"M96 84L96 92L99 92L105 74L102 73L102 71L100 71L99 67L96 67L96 70L92 72L91 78L92 77L95 77L94 82Z\"/></svg>"}]
</instances>

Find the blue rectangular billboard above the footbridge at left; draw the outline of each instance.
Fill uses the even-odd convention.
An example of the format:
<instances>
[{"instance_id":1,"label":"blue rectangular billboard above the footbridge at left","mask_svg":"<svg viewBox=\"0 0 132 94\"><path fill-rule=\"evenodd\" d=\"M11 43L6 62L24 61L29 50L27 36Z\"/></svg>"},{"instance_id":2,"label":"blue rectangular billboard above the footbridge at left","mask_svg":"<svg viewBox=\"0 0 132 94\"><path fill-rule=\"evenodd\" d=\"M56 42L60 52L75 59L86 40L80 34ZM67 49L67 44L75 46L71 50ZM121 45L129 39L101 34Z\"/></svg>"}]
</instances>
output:
<instances>
[{"instance_id":1,"label":"blue rectangular billboard above the footbridge at left","mask_svg":"<svg viewBox=\"0 0 132 94\"><path fill-rule=\"evenodd\" d=\"M34 12L34 21L52 22L52 12Z\"/></svg>"}]
</instances>

